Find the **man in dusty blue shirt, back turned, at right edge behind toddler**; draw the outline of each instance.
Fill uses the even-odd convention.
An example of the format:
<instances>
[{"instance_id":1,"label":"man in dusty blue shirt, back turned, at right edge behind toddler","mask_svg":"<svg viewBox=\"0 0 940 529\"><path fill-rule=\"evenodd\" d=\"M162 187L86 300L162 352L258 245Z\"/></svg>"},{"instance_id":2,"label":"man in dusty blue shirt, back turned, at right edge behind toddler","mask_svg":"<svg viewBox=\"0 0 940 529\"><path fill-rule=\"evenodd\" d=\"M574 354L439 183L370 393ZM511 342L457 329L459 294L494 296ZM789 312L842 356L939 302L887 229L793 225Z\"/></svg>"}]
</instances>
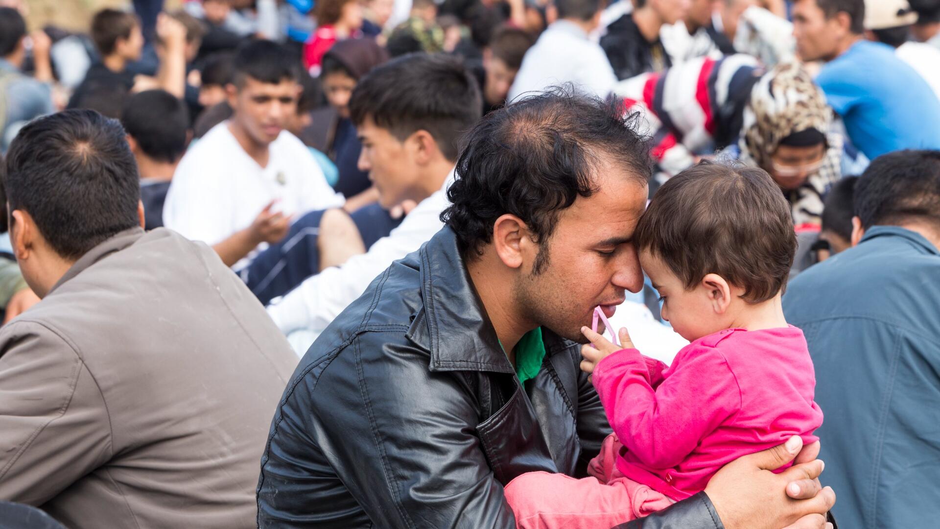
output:
<instances>
[{"instance_id":1,"label":"man in dusty blue shirt, back turned, at right edge behind toddler","mask_svg":"<svg viewBox=\"0 0 940 529\"><path fill-rule=\"evenodd\" d=\"M940 152L891 152L855 184L852 244L791 281L844 527L930 527L940 505ZM864 456L864 457L863 457ZM912 508L917 505L916 508Z\"/></svg>"}]
</instances>

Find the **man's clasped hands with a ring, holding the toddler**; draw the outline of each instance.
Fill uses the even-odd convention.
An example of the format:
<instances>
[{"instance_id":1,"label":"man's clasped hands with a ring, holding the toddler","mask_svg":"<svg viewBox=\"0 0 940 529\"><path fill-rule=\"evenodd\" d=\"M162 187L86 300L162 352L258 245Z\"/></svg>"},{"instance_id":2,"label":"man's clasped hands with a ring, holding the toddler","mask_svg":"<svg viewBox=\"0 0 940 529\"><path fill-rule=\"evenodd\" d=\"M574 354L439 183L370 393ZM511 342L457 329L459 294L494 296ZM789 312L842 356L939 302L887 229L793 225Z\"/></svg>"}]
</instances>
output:
<instances>
[{"instance_id":1,"label":"man's clasped hands with a ring, holding the toddler","mask_svg":"<svg viewBox=\"0 0 940 529\"><path fill-rule=\"evenodd\" d=\"M803 449L801 452L801 448ZM803 448L793 436L785 444L739 457L714 474L705 492L727 529L831 528L825 513L836 503L833 489L817 479L820 444ZM772 473L796 457L783 473Z\"/></svg>"}]
</instances>

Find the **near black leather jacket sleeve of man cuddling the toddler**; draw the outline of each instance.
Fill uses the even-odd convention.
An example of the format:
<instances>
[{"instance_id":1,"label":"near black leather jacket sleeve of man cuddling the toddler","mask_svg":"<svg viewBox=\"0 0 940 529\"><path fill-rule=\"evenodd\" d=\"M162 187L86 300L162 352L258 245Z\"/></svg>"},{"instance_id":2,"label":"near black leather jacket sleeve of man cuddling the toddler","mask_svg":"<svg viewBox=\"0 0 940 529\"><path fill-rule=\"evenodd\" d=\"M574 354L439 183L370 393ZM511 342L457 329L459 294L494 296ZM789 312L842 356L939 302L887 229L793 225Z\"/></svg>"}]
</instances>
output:
<instances>
[{"instance_id":1,"label":"near black leather jacket sleeve of man cuddling the toddler","mask_svg":"<svg viewBox=\"0 0 940 529\"><path fill-rule=\"evenodd\" d=\"M282 424L275 427L290 441L277 442L275 430L270 459L262 461L261 525L351 526L343 519L351 505L326 500L336 491L322 490L323 484L332 483L349 490L375 527L514 528L503 488L480 450L478 407L462 377L429 371L426 352L385 336L368 332L353 339L328 365L312 370L321 369L319 377L302 378L282 405ZM369 354L370 348L385 351ZM301 400L291 404L294 398ZM306 424L291 425L298 421ZM290 435L290 429L304 435ZM284 472L304 478L279 475ZM278 496L305 505L282 505ZM305 518L293 518L297 514Z\"/></svg>"}]
</instances>

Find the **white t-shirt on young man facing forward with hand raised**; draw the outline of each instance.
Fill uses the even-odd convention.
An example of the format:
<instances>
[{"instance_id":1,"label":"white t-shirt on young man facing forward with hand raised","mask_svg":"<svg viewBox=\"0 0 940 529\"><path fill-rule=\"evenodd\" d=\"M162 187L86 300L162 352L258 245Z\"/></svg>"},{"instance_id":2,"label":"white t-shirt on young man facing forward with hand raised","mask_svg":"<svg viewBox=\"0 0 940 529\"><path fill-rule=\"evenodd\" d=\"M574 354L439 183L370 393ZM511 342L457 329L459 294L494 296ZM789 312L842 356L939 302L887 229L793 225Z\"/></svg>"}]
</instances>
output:
<instances>
[{"instance_id":1,"label":"white t-shirt on young man facing forward with hand raised","mask_svg":"<svg viewBox=\"0 0 940 529\"><path fill-rule=\"evenodd\" d=\"M228 130L228 121L213 127L180 160L166 194L164 225L215 245L250 226L272 200L278 200L274 211L295 219L343 205L300 139L284 131L269 149L268 165L261 168Z\"/></svg>"}]
</instances>

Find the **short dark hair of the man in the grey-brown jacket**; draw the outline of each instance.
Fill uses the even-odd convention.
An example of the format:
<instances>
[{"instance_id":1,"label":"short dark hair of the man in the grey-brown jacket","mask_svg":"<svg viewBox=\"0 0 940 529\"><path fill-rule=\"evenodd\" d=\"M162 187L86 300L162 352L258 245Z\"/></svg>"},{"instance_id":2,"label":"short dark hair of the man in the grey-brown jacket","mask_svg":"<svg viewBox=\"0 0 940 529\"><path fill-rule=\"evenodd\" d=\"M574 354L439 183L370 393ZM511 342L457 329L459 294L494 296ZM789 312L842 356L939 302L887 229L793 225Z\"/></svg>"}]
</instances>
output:
<instances>
[{"instance_id":1,"label":"short dark hair of the man in the grey-brown jacket","mask_svg":"<svg viewBox=\"0 0 940 529\"><path fill-rule=\"evenodd\" d=\"M65 259L140 225L137 164L124 129L92 110L26 124L10 143L3 186L10 211L32 216Z\"/></svg>"}]
</instances>

